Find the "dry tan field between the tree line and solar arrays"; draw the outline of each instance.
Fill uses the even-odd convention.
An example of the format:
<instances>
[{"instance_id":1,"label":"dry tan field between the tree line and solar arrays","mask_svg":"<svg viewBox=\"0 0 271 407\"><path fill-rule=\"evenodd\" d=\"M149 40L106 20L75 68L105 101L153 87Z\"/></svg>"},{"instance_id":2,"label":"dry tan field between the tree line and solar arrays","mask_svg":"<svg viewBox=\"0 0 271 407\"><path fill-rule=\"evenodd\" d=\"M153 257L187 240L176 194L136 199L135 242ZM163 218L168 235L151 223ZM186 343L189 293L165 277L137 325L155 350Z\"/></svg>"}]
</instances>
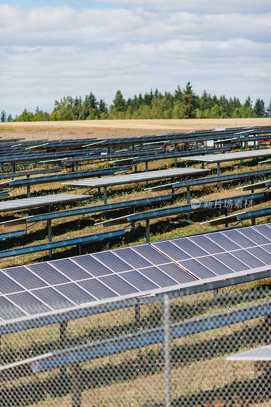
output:
<instances>
[{"instance_id":1,"label":"dry tan field between the tree line and solar arrays","mask_svg":"<svg viewBox=\"0 0 271 407\"><path fill-rule=\"evenodd\" d=\"M258 119L157 119L84 120L0 123L0 137L25 139L114 138L227 127L269 126L271 118ZM48 132L48 134L47 134Z\"/></svg>"}]
</instances>

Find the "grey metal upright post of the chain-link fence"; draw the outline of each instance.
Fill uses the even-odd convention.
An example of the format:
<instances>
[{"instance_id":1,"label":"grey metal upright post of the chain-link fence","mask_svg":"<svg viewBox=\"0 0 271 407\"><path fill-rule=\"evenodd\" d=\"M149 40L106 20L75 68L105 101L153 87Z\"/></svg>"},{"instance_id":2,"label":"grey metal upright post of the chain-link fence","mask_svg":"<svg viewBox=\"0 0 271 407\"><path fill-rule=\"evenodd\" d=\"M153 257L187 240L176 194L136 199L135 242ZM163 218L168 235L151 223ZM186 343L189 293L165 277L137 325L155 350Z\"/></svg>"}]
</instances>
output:
<instances>
[{"instance_id":1,"label":"grey metal upright post of the chain-link fence","mask_svg":"<svg viewBox=\"0 0 271 407\"><path fill-rule=\"evenodd\" d=\"M171 406L171 385L170 385L170 300L167 294L164 295L164 366L165 366L165 407Z\"/></svg>"}]
</instances>

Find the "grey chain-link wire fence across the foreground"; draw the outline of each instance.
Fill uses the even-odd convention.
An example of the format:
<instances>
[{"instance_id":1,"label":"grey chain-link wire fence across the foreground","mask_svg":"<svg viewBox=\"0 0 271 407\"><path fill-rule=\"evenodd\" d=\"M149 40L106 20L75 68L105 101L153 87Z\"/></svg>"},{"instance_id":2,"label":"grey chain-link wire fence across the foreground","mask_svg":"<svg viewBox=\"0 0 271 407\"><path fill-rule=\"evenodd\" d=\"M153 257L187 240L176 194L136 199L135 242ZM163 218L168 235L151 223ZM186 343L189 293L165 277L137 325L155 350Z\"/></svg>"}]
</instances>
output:
<instances>
[{"instance_id":1,"label":"grey chain-link wire fence across the foreground","mask_svg":"<svg viewBox=\"0 0 271 407\"><path fill-rule=\"evenodd\" d=\"M270 300L261 280L3 335L0 405L270 406L270 362L227 359L271 343Z\"/></svg>"}]
</instances>

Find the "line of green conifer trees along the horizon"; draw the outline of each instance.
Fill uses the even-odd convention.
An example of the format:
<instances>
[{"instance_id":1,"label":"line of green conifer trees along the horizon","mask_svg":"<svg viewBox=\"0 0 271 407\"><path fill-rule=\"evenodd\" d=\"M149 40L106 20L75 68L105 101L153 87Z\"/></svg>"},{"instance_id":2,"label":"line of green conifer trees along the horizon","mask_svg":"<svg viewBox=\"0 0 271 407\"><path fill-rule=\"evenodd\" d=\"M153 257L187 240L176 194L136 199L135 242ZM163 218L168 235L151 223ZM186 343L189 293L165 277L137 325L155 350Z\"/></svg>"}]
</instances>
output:
<instances>
[{"instance_id":1,"label":"line of green conifer trees along the horizon","mask_svg":"<svg viewBox=\"0 0 271 407\"><path fill-rule=\"evenodd\" d=\"M81 96L64 96L55 100L51 113L26 109L12 118L5 110L1 112L1 122L34 122L57 120L93 120L93 119L225 119L225 118L263 118L271 117L271 101L267 107L257 98L253 105L250 96L244 104L235 96L218 98L206 91L201 96L195 94L190 82L184 89L162 94L158 89L139 94L125 100L121 91L117 91L110 106L103 99L98 100L93 92Z\"/></svg>"}]
</instances>

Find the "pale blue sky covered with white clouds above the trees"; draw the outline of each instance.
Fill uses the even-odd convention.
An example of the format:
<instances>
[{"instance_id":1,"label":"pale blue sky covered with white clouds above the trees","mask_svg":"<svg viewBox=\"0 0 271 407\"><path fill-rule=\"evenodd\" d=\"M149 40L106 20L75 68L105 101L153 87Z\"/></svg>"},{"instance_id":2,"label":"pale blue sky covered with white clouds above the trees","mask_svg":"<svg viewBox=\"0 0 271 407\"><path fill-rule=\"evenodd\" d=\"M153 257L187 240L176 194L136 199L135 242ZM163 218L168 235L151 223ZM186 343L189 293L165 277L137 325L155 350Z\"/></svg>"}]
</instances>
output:
<instances>
[{"instance_id":1,"label":"pale blue sky covered with white clouds above the trees","mask_svg":"<svg viewBox=\"0 0 271 407\"><path fill-rule=\"evenodd\" d=\"M271 99L270 0L0 3L0 111L64 95L111 103L190 81L196 94Z\"/></svg>"}]
</instances>

